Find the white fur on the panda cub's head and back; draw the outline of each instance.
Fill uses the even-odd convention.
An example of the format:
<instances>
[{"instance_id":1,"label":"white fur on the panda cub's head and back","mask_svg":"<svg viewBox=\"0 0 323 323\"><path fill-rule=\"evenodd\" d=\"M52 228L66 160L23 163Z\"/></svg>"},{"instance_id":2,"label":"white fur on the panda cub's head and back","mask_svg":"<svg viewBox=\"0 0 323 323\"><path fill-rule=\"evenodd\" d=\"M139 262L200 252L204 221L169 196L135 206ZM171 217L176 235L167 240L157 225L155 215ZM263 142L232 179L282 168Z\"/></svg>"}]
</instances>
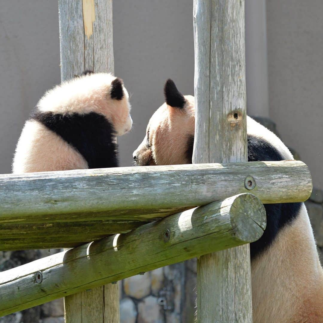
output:
<instances>
[{"instance_id":1,"label":"white fur on the panda cub's head and back","mask_svg":"<svg viewBox=\"0 0 323 323\"><path fill-rule=\"evenodd\" d=\"M121 100L111 99L111 82L107 73L88 74L57 85L39 100L37 108L57 114L105 116L118 135L131 129L129 95L123 86ZM84 157L55 132L35 120L27 120L16 146L12 164L14 173L86 169Z\"/></svg>"}]
</instances>

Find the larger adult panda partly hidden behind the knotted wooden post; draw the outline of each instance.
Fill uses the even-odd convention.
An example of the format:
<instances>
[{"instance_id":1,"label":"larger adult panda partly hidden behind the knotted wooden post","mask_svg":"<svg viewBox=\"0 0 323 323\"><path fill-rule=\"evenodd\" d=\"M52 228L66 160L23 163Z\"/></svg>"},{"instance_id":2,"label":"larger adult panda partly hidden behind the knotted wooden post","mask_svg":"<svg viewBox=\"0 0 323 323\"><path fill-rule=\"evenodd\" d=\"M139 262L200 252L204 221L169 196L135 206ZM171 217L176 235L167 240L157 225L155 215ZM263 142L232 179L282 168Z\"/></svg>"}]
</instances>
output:
<instances>
[{"instance_id":1,"label":"larger adult panda partly hidden behind the knotted wooden post","mask_svg":"<svg viewBox=\"0 0 323 323\"><path fill-rule=\"evenodd\" d=\"M194 97L174 82L133 152L137 165L192 163ZM271 131L247 117L248 161L293 159ZM256 323L323 322L323 271L304 203L267 204L267 227L250 244L253 319Z\"/></svg>"}]
</instances>

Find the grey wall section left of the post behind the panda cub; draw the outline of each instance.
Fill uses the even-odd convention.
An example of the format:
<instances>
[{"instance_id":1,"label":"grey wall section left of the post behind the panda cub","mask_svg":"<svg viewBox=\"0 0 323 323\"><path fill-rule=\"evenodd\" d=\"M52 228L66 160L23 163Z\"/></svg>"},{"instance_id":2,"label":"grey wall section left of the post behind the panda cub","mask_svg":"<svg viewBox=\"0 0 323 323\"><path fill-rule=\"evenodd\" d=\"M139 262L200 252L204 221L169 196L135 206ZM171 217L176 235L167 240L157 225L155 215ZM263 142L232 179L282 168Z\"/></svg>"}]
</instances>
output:
<instances>
[{"instance_id":1,"label":"grey wall section left of the post behind the panda cub","mask_svg":"<svg viewBox=\"0 0 323 323\"><path fill-rule=\"evenodd\" d=\"M3 1L0 8L0 173L43 93L60 82L57 1Z\"/></svg>"}]
</instances>

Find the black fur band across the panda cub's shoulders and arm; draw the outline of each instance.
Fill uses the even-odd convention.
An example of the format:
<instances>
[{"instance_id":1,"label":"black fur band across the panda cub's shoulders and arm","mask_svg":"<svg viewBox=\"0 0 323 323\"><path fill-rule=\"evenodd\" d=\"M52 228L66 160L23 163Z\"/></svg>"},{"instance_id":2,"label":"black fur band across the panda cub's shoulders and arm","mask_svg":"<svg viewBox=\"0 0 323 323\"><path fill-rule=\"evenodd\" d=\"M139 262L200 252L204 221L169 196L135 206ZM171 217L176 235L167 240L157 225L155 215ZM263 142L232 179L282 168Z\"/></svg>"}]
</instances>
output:
<instances>
[{"instance_id":1,"label":"black fur band across the panda cub's shoulders and arm","mask_svg":"<svg viewBox=\"0 0 323 323\"><path fill-rule=\"evenodd\" d=\"M115 130L103 115L95 112L62 115L35 109L30 119L41 122L72 145L89 168L118 167L118 146L113 141Z\"/></svg>"}]
</instances>

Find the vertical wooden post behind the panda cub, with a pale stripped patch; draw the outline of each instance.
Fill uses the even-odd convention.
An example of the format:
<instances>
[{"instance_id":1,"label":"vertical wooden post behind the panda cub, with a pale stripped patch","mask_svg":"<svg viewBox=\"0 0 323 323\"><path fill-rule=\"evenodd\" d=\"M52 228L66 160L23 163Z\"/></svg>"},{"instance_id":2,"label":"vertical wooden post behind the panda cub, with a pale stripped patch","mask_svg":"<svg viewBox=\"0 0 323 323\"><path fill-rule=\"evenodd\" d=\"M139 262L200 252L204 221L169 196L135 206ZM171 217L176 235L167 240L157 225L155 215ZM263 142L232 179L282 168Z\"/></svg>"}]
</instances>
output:
<instances>
[{"instance_id":1,"label":"vertical wooden post behind the panda cub, with a pale stripped patch","mask_svg":"<svg viewBox=\"0 0 323 323\"><path fill-rule=\"evenodd\" d=\"M84 70L114 73L112 0L58 0L62 82ZM118 284L65 297L68 323L117 323Z\"/></svg>"}]
</instances>

